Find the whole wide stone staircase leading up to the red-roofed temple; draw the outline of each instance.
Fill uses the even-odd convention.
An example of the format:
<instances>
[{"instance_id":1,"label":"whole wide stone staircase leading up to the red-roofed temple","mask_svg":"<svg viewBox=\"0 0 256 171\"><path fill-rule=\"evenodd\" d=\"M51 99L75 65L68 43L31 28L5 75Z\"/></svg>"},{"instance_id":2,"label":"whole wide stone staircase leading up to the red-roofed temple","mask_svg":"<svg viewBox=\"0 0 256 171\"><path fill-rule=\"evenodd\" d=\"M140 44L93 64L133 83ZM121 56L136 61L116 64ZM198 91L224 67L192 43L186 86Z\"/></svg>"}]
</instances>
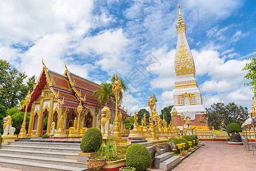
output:
<instances>
[{"instance_id":1,"label":"whole wide stone staircase leading up to the red-roofed temple","mask_svg":"<svg viewBox=\"0 0 256 171\"><path fill-rule=\"evenodd\" d=\"M78 162L78 143L16 141L2 145L0 166L21 170L89 170Z\"/></svg>"}]
</instances>

